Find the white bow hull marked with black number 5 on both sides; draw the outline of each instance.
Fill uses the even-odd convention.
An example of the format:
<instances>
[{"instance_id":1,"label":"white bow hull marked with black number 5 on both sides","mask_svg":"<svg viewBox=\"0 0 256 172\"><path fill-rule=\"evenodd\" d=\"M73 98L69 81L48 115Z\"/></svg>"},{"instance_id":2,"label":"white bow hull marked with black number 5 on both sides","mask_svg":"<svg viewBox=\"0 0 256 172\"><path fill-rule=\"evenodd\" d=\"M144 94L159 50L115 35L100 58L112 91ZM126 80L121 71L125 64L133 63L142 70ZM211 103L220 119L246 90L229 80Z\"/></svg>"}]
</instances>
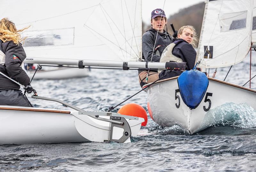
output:
<instances>
[{"instance_id":1,"label":"white bow hull marked with black number 5 on both sides","mask_svg":"<svg viewBox=\"0 0 256 172\"><path fill-rule=\"evenodd\" d=\"M153 120L161 126L178 124L188 133L193 134L211 125L220 124L221 120L212 121L211 110L225 103L247 103L256 109L255 90L211 78L208 78L209 86L201 103L195 109L190 109L182 101L179 92L175 95L175 90L179 89L177 78L165 79L150 86L147 90ZM212 96L209 93L212 93ZM211 101L210 108L209 101ZM179 108L175 104L180 104Z\"/></svg>"}]
</instances>

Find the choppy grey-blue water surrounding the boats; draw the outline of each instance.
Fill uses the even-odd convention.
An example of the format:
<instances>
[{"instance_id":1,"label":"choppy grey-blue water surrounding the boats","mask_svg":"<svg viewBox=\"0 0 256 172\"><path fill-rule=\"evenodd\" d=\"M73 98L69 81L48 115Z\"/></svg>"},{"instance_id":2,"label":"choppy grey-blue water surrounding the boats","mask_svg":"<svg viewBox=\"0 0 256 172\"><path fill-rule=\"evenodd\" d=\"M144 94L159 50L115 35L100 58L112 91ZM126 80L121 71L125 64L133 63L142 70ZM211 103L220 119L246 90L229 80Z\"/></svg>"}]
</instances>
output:
<instances>
[{"instance_id":1,"label":"choppy grey-blue water surrounding the boats","mask_svg":"<svg viewBox=\"0 0 256 172\"><path fill-rule=\"evenodd\" d=\"M256 74L253 52L252 76ZM243 85L249 80L249 62L232 67L226 81ZM224 79L229 68L218 69ZM210 71L210 76L212 75ZM57 98L88 111L106 111L140 90L137 71L93 69L82 79L35 80L40 96ZM249 84L246 85L249 87ZM256 88L256 78L252 80ZM50 101L30 99L35 107L66 109ZM146 93L126 103L147 109ZM0 171L255 171L256 112L246 104L228 103L217 109L211 126L188 135L179 126L148 124L132 143L66 143L0 146ZM229 108L227 108L229 107Z\"/></svg>"}]
</instances>

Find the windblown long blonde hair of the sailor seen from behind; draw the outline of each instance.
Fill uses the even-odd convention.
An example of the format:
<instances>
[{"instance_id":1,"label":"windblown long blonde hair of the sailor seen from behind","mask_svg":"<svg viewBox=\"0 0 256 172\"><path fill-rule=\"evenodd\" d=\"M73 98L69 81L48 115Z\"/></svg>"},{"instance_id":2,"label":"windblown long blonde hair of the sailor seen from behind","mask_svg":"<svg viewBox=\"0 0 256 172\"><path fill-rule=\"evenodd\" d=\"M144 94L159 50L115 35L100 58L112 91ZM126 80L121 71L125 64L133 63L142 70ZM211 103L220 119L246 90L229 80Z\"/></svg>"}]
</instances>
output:
<instances>
[{"instance_id":1,"label":"windblown long blonde hair of the sailor seen from behind","mask_svg":"<svg viewBox=\"0 0 256 172\"><path fill-rule=\"evenodd\" d=\"M7 18L0 20L0 39L3 42L13 41L14 44L19 45L21 41L25 41L25 38L21 38L20 32L28 29L30 26L23 29L17 30L16 26L12 21Z\"/></svg>"}]
</instances>

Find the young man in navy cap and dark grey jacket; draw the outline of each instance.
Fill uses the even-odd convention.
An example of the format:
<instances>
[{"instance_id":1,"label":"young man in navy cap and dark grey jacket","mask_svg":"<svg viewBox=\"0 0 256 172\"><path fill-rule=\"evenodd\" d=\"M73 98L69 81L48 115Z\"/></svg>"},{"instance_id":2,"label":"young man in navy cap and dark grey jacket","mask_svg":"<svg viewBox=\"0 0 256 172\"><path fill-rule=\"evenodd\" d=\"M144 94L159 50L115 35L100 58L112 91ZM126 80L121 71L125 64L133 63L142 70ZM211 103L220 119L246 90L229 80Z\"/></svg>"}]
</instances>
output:
<instances>
[{"instance_id":1,"label":"young man in navy cap and dark grey jacket","mask_svg":"<svg viewBox=\"0 0 256 172\"><path fill-rule=\"evenodd\" d=\"M164 30L166 23L167 18L162 9L158 8L151 12L152 27L142 36L142 59L146 62L159 62L165 47L171 43L171 35ZM148 71L139 70L139 82L141 87L159 79L157 70L150 70L146 83L147 74Z\"/></svg>"}]
</instances>

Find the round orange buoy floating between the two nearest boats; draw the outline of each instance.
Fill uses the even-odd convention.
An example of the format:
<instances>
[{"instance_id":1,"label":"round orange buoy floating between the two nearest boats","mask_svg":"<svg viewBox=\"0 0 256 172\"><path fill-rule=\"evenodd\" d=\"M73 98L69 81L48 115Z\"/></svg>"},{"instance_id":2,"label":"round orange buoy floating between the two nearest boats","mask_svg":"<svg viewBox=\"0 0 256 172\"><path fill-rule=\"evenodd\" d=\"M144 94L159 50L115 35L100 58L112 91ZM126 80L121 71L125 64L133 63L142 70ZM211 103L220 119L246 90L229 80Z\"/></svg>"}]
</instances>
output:
<instances>
[{"instance_id":1,"label":"round orange buoy floating between the two nearest boats","mask_svg":"<svg viewBox=\"0 0 256 172\"><path fill-rule=\"evenodd\" d=\"M146 126L148 122L148 115L144 108L136 103L128 103L124 105L122 108L118 110L119 114L122 115L129 115L129 116L136 116L140 118L144 118L144 122L141 123L142 126Z\"/></svg>"}]
</instances>

